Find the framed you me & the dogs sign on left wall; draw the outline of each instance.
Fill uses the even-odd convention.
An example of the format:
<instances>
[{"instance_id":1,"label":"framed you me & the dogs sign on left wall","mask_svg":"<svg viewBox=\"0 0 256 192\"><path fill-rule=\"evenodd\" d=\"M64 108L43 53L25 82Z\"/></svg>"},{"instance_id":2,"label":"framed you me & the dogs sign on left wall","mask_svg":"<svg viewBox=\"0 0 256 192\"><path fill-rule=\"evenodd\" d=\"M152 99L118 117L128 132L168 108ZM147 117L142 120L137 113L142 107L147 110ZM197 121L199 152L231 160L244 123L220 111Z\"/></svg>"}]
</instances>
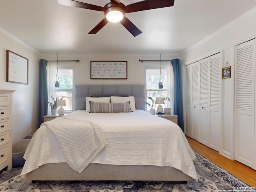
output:
<instances>
[{"instance_id":1,"label":"framed you me & the dogs sign on left wall","mask_svg":"<svg viewBox=\"0 0 256 192\"><path fill-rule=\"evenodd\" d=\"M28 59L6 50L6 81L28 85Z\"/></svg>"}]
</instances>

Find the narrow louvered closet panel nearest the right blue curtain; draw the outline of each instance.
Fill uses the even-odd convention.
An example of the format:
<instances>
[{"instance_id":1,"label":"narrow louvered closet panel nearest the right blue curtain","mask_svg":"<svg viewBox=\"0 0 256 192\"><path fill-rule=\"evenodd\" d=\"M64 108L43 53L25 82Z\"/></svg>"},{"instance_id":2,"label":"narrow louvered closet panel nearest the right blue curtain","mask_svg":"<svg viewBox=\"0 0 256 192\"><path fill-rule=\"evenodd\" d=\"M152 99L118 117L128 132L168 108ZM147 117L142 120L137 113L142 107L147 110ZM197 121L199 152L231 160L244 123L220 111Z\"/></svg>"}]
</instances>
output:
<instances>
[{"instance_id":1,"label":"narrow louvered closet panel nearest the right blue curtain","mask_svg":"<svg viewBox=\"0 0 256 192\"><path fill-rule=\"evenodd\" d=\"M192 137L192 79L191 65L185 66L184 82L185 82L185 135Z\"/></svg>"}]
</instances>

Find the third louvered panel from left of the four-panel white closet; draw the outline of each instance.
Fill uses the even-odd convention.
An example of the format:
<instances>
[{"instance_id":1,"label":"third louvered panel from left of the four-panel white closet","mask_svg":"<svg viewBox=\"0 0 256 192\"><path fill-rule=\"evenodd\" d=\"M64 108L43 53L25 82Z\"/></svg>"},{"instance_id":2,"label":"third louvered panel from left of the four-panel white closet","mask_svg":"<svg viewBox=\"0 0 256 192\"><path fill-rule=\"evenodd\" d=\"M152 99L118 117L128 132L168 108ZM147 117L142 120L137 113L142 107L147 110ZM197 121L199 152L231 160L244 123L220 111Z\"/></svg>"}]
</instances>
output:
<instances>
[{"instance_id":1,"label":"third louvered panel from left of the four-panel white closet","mask_svg":"<svg viewBox=\"0 0 256 192\"><path fill-rule=\"evenodd\" d=\"M209 141L209 57L200 60L200 127L199 142Z\"/></svg>"}]
</instances>

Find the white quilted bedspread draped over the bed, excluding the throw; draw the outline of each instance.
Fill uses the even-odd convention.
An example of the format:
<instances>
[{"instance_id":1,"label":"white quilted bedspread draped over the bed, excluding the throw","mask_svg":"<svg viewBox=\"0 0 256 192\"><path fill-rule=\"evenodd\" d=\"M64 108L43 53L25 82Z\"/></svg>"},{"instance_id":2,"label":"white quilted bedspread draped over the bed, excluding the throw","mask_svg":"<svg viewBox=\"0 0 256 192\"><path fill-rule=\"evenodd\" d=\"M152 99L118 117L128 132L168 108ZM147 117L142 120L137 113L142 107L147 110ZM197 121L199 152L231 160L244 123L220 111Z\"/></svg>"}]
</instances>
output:
<instances>
[{"instance_id":1,"label":"white quilted bedspread draped over the bed, excluding the throw","mask_svg":"<svg viewBox=\"0 0 256 192\"><path fill-rule=\"evenodd\" d=\"M196 158L180 127L142 110L133 113L88 113L74 111L64 117L89 120L103 130L106 146L93 163L114 165L172 166L197 180ZM25 154L22 174L42 164L66 162L60 144L46 126L34 134Z\"/></svg>"}]
</instances>

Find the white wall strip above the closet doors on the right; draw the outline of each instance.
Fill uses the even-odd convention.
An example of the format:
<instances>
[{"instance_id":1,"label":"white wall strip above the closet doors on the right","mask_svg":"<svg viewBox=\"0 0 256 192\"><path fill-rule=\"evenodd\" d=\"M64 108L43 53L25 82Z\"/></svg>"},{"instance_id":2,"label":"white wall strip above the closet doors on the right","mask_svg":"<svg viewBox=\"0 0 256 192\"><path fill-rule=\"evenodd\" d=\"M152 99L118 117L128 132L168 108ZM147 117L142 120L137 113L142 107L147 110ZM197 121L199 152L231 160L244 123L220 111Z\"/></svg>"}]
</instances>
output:
<instances>
[{"instance_id":1,"label":"white wall strip above the closet doors on the right","mask_svg":"<svg viewBox=\"0 0 256 192\"><path fill-rule=\"evenodd\" d=\"M254 38L256 34L255 21L256 9L211 34L206 40L202 40L196 46L184 51L180 56L182 63L187 63L200 57L207 57L222 49L239 44L244 40Z\"/></svg>"}]
</instances>

